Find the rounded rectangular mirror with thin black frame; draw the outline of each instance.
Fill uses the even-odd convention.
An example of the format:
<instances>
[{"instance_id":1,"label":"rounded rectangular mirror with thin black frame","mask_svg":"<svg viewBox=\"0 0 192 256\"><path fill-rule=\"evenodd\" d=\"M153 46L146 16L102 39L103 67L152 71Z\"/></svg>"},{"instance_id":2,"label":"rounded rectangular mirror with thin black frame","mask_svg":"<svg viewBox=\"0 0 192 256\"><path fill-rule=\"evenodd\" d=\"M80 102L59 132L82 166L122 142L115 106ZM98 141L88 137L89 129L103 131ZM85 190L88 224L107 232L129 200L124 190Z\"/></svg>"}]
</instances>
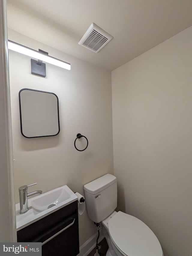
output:
<instances>
[{"instance_id":1,"label":"rounded rectangular mirror with thin black frame","mask_svg":"<svg viewBox=\"0 0 192 256\"><path fill-rule=\"evenodd\" d=\"M21 133L26 138L55 136L59 133L58 97L33 89L19 91Z\"/></svg>"}]
</instances>

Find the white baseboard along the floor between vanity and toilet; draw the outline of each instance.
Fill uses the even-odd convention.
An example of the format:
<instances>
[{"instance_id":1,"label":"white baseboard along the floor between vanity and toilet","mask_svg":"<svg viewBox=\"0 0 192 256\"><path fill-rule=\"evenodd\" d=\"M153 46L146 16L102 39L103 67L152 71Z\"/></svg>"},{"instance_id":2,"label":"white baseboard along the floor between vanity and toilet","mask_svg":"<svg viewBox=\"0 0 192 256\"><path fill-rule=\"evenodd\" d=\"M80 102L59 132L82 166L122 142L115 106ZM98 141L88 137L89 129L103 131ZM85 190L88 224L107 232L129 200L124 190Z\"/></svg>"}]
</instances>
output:
<instances>
[{"instance_id":1,"label":"white baseboard along the floor between vanity and toilet","mask_svg":"<svg viewBox=\"0 0 192 256\"><path fill-rule=\"evenodd\" d=\"M79 248L79 254L77 254L77 256L87 256L95 248L97 236L98 233L95 233L95 235L91 236L83 245L81 245L81 247ZM100 243L103 239L104 235L102 230L100 230L98 242Z\"/></svg>"}]
</instances>

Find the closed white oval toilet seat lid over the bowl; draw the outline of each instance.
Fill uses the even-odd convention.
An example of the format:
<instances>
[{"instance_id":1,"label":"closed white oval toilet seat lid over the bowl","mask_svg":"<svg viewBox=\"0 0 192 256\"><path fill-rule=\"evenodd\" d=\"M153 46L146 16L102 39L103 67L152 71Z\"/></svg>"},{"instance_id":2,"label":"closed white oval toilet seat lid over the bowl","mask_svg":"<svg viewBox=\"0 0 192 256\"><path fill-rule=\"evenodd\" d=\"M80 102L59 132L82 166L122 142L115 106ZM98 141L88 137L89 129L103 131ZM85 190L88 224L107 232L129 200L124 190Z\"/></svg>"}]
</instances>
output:
<instances>
[{"instance_id":1,"label":"closed white oval toilet seat lid over the bowl","mask_svg":"<svg viewBox=\"0 0 192 256\"><path fill-rule=\"evenodd\" d=\"M161 245L143 221L124 212L117 212L108 221L109 235L124 256L162 256Z\"/></svg>"}]
</instances>

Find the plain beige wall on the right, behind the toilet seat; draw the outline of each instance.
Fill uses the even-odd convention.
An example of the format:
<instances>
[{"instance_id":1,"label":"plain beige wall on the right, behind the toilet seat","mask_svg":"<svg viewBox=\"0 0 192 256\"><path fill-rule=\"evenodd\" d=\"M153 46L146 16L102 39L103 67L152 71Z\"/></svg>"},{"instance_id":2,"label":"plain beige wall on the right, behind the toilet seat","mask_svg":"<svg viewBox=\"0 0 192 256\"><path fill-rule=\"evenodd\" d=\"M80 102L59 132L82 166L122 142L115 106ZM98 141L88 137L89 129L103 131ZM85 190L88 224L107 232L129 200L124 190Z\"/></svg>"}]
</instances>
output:
<instances>
[{"instance_id":1,"label":"plain beige wall on the right, behind the toilet seat","mask_svg":"<svg viewBox=\"0 0 192 256\"><path fill-rule=\"evenodd\" d=\"M118 208L192 252L192 27L112 72Z\"/></svg>"}]
</instances>

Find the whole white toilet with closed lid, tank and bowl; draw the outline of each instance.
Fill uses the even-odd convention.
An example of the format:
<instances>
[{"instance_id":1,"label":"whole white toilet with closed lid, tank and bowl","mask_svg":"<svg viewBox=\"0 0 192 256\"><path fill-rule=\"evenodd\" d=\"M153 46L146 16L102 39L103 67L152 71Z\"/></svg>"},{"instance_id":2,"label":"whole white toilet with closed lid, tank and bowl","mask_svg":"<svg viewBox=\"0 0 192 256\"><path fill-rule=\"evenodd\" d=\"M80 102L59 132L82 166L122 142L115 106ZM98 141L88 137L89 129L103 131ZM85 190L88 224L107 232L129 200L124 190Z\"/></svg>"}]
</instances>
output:
<instances>
[{"instance_id":1,"label":"whole white toilet with closed lid, tank and bowl","mask_svg":"<svg viewBox=\"0 0 192 256\"><path fill-rule=\"evenodd\" d=\"M84 185L89 218L104 226L109 249L106 256L163 256L161 245L143 221L114 211L117 207L117 179L106 174Z\"/></svg>"}]
</instances>

